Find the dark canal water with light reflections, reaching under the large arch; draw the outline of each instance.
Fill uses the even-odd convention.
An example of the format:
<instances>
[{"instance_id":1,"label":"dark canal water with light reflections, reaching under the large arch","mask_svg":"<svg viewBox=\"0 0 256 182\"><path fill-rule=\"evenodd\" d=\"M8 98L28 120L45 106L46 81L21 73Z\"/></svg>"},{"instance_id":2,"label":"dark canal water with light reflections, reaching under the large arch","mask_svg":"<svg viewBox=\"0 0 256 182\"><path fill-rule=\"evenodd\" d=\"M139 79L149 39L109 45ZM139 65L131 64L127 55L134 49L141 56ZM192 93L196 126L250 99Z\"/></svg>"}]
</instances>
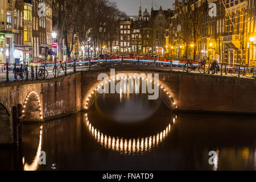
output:
<instances>
[{"instance_id":1,"label":"dark canal water with light reflections, reaching under the large arch","mask_svg":"<svg viewBox=\"0 0 256 182\"><path fill-rule=\"evenodd\" d=\"M253 116L175 114L146 94L98 94L88 113L24 125L20 149L0 149L0 169L255 170L255 131Z\"/></svg>"}]
</instances>

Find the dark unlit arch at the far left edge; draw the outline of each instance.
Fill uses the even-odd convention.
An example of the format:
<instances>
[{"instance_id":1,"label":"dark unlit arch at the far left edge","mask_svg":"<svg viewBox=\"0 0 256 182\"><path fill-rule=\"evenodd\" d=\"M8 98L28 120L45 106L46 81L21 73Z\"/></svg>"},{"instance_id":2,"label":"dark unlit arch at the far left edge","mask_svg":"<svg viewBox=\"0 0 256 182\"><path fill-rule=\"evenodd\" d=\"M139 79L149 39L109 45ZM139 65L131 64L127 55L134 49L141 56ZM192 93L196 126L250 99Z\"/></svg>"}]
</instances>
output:
<instances>
[{"instance_id":1,"label":"dark unlit arch at the far left edge","mask_svg":"<svg viewBox=\"0 0 256 182\"><path fill-rule=\"evenodd\" d=\"M10 113L6 109L5 105L0 103L0 138L1 143L10 143L11 142L11 122L10 122Z\"/></svg>"}]
</instances>

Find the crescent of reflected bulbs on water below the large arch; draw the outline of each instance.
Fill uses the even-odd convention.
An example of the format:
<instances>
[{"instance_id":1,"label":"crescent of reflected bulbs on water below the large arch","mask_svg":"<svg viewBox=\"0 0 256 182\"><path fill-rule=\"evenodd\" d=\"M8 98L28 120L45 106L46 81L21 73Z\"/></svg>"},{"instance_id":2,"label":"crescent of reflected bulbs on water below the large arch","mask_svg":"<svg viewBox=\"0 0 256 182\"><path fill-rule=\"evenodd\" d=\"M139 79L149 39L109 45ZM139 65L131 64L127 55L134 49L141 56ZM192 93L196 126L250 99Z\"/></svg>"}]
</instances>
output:
<instances>
[{"instance_id":1,"label":"crescent of reflected bulbs on water below the large arch","mask_svg":"<svg viewBox=\"0 0 256 182\"><path fill-rule=\"evenodd\" d=\"M102 147L120 152L125 155L142 155L146 152L152 151L154 148L163 142L164 139L170 134L172 126L176 122L174 118L171 123L166 126L163 131L149 137L138 137L138 138L119 138L112 137L101 133L100 130L94 128L92 123L89 122L88 114L85 114L86 126L92 137L101 144Z\"/></svg>"}]
</instances>

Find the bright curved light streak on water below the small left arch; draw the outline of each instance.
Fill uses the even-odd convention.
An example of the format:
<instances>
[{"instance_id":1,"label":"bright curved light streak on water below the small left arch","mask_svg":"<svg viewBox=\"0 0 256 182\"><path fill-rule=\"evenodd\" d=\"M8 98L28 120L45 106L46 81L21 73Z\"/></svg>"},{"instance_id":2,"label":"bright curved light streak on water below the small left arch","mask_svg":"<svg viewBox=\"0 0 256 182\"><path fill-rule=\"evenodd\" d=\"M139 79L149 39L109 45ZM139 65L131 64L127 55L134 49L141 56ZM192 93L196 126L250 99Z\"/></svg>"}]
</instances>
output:
<instances>
[{"instance_id":1,"label":"bright curved light streak on water below the small left arch","mask_svg":"<svg viewBox=\"0 0 256 182\"><path fill-rule=\"evenodd\" d=\"M41 150L42 150L42 134L43 134L43 125L40 126L39 144L38 144L38 150L36 152L36 156L31 165L27 163L24 165L24 168L23 168L24 171L36 171L38 169L38 166L39 166L38 162L39 162ZM24 157L23 157L23 161L24 161Z\"/></svg>"}]
</instances>

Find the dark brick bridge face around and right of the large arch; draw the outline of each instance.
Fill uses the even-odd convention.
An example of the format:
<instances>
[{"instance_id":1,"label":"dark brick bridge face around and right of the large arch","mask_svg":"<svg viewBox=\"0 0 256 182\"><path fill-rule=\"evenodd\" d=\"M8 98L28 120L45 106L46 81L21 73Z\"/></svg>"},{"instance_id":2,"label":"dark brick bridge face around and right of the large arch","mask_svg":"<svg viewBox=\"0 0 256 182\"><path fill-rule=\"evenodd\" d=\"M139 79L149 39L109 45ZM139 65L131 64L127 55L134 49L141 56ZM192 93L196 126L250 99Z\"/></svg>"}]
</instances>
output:
<instances>
[{"instance_id":1,"label":"dark brick bridge face around and right of the large arch","mask_svg":"<svg viewBox=\"0 0 256 182\"><path fill-rule=\"evenodd\" d=\"M82 72L82 108L85 98L96 88L99 72ZM108 73L108 72L106 72ZM153 73L138 70L118 73ZM158 71L159 82L175 98L179 111L214 111L222 113L256 114L256 80L197 73ZM109 75L109 73L108 73ZM89 92L88 92L89 91ZM167 104L170 100L161 94ZM170 105L172 109L174 106Z\"/></svg>"}]
</instances>

